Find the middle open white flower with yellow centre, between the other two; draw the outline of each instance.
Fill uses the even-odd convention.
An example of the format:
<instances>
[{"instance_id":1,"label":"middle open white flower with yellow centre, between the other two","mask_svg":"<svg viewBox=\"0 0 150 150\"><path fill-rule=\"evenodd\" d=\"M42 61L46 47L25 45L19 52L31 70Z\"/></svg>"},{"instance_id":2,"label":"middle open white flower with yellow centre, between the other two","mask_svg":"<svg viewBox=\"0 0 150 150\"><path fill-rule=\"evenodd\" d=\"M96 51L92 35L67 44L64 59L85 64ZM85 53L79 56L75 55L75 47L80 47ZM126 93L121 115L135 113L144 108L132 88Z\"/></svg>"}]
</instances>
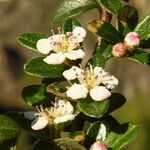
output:
<instances>
[{"instance_id":1,"label":"middle open white flower with yellow centre, between the other two","mask_svg":"<svg viewBox=\"0 0 150 150\"><path fill-rule=\"evenodd\" d=\"M95 101L102 101L111 96L109 90L118 85L118 80L110 73L104 71L101 67L90 66L85 70L73 66L69 70L63 72L63 76L67 80L77 79L79 82L74 83L68 88L66 94L72 99L86 98L88 93Z\"/></svg>"}]
</instances>

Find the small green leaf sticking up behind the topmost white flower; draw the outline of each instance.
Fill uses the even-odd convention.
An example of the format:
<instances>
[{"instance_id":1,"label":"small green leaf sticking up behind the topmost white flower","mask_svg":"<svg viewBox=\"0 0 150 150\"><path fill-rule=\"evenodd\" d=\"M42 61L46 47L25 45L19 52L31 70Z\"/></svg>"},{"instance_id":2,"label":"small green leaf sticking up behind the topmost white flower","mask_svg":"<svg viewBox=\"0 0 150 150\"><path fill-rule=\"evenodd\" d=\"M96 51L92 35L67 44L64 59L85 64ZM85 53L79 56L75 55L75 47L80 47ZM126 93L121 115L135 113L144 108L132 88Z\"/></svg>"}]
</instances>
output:
<instances>
[{"instance_id":1,"label":"small green leaf sticking up behind the topmost white flower","mask_svg":"<svg viewBox=\"0 0 150 150\"><path fill-rule=\"evenodd\" d=\"M64 33L72 32L76 26L81 26L80 22L77 19L67 19L64 23Z\"/></svg>"}]
</instances>

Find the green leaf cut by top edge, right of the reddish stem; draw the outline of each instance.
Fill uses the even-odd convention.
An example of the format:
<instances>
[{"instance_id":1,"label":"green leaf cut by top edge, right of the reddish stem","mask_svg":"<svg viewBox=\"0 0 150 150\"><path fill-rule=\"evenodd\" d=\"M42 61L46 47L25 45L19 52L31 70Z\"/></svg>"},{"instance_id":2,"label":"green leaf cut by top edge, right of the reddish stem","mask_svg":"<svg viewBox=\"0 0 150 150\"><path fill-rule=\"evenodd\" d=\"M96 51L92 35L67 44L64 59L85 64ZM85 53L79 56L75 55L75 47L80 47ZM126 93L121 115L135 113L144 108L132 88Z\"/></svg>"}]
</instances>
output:
<instances>
[{"instance_id":1,"label":"green leaf cut by top edge, right of the reddish stem","mask_svg":"<svg viewBox=\"0 0 150 150\"><path fill-rule=\"evenodd\" d=\"M121 11L121 0L97 0L108 12L118 14Z\"/></svg>"}]
</instances>

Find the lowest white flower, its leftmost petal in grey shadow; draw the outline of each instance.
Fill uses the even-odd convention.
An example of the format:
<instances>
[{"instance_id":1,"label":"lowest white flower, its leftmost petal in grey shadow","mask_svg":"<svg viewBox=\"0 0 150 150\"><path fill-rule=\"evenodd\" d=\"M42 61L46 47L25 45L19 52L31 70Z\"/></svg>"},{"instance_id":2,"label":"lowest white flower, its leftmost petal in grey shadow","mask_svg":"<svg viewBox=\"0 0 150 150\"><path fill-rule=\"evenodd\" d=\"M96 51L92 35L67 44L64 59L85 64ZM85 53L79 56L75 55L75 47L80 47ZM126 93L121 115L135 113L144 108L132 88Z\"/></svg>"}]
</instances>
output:
<instances>
[{"instance_id":1,"label":"lowest white flower, its leftmost petal in grey shadow","mask_svg":"<svg viewBox=\"0 0 150 150\"><path fill-rule=\"evenodd\" d=\"M48 124L61 123L73 120L74 108L69 101L58 100L54 103L54 107L43 108L42 106L37 107L38 112L28 111L24 113L24 117L33 120L31 128L33 130L41 130Z\"/></svg>"}]
</instances>

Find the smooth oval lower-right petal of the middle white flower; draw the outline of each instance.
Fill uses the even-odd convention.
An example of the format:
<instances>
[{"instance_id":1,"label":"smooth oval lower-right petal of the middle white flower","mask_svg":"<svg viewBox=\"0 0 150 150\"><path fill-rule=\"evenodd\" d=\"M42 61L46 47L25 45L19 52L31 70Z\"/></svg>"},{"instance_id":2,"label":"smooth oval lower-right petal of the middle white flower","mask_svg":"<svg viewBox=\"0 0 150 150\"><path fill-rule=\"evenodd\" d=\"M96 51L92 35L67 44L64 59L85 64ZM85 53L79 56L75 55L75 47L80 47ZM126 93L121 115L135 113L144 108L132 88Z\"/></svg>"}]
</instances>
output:
<instances>
[{"instance_id":1,"label":"smooth oval lower-right petal of the middle white flower","mask_svg":"<svg viewBox=\"0 0 150 150\"><path fill-rule=\"evenodd\" d=\"M102 101L111 96L111 92L104 86L96 86L90 90L90 95L95 101Z\"/></svg>"}]
</instances>

